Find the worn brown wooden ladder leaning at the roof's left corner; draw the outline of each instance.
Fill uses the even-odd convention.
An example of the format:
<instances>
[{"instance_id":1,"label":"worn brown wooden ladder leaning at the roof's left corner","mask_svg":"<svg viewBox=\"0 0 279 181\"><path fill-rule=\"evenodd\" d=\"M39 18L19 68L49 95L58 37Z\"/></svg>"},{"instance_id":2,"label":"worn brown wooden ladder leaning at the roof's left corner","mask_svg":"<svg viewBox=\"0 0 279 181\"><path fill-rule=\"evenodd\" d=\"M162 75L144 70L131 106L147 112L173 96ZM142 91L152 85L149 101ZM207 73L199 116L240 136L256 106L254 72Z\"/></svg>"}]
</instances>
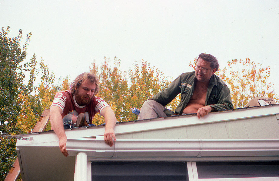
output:
<instances>
[{"instance_id":1,"label":"worn brown wooden ladder leaning at the roof's left corner","mask_svg":"<svg viewBox=\"0 0 279 181\"><path fill-rule=\"evenodd\" d=\"M48 124L48 119L49 119L49 109L45 109L40 119L36 123L34 129L32 130L32 133L44 131L46 125ZM20 174L20 168L19 168L18 158L16 158L14 164L12 165L11 170L9 171L4 181L15 181L18 179L19 174Z\"/></svg>"}]
</instances>

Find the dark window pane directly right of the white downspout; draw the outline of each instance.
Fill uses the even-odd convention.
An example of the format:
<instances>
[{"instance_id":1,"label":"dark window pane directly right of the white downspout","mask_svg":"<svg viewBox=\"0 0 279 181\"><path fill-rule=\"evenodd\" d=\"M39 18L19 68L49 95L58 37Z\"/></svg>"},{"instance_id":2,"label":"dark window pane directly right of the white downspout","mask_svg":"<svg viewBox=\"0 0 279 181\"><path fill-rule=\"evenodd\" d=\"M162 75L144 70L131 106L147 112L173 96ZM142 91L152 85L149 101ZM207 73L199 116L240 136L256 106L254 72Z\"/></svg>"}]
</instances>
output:
<instances>
[{"instance_id":1,"label":"dark window pane directly right of the white downspout","mask_svg":"<svg viewBox=\"0 0 279 181\"><path fill-rule=\"evenodd\" d=\"M92 162L92 181L188 181L186 162Z\"/></svg>"}]
</instances>

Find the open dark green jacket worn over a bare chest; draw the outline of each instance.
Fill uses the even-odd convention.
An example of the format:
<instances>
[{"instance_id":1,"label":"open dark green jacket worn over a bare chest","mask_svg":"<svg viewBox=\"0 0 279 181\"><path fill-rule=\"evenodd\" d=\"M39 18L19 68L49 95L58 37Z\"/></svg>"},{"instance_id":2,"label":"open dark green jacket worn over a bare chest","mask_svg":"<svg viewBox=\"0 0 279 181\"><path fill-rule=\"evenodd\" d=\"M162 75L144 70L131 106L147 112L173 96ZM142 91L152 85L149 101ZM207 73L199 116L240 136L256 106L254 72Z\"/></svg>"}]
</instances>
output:
<instances>
[{"instance_id":1,"label":"open dark green jacket worn over a bare chest","mask_svg":"<svg viewBox=\"0 0 279 181\"><path fill-rule=\"evenodd\" d=\"M193 95L196 81L195 71L183 73L172 81L167 88L151 99L166 106L179 93L181 93L181 102L176 107L175 113L182 114ZM234 108L228 86L216 75L212 75L210 78L206 93L205 106L211 106L215 108L215 111Z\"/></svg>"}]
</instances>

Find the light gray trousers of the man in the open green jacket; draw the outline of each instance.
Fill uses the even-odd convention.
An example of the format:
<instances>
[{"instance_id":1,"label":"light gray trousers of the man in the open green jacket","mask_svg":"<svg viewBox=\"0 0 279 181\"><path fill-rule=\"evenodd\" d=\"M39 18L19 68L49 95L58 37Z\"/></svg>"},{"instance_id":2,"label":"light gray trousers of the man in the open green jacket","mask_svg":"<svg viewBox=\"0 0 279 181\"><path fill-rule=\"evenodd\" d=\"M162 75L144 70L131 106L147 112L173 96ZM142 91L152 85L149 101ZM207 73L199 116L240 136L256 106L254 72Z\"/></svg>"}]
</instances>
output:
<instances>
[{"instance_id":1,"label":"light gray trousers of the man in the open green jacket","mask_svg":"<svg viewBox=\"0 0 279 181\"><path fill-rule=\"evenodd\" d=\"M164 110L167 108L154 100L146 100L141 106L141 112L138 115L138 120L151 119L158 117L166 117Z\"/></svg>"}]
</instances>

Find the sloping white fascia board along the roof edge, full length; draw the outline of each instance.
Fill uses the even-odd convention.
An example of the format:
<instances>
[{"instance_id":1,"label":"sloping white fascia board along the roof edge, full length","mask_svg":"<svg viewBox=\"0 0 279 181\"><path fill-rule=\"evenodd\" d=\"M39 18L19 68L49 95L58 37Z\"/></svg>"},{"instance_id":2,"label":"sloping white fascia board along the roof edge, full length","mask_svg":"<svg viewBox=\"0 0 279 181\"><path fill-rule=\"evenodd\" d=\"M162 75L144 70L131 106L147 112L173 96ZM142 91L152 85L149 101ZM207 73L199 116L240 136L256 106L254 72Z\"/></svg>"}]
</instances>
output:
<instances>
[{"instance_id":1,"label":"sloping white fascia board along the roof edge, full length","mask_svg":"<svg viewBox=\"0 0 279 181\"><path fill-rule=\"evenodd\" d=\"M181 115L156 119L146 119L139 121L117 123L115 125L115 135L131 132L150 131L156 129L167 129L187 125L198 125L205 123L230 121L237 119L247 119L253 117L262 117L279 114L279 104L267 105L261 107L241 108L221 112L212 112L203 118L198 119L196 114ZM65 130L68 138L91 138L101 136L105 132L105 126L96 126L89 128L78 128ZM54 132L31 133L26 136L33 137L33 141L17 140L17 146L24 144L38 144L40 142L59 141Z\"/></svg>"}]
</instances>

